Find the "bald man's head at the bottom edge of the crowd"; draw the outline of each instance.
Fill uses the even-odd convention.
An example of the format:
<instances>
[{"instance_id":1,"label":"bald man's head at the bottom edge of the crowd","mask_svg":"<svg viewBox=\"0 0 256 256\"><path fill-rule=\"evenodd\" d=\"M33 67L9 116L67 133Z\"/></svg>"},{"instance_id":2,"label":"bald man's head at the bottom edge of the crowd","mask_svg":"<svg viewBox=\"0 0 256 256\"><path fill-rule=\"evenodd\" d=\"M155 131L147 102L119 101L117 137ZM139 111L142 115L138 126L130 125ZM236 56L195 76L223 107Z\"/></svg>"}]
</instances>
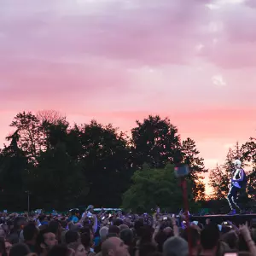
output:
<instances>
[{"instance_id":1,"label":"bald man's head at the bottom edge of the crowd","mask_svg":"<svg viewBox=\"0 0 256 256\"><path fill-rule=\"evenodd\" d=\"M102 256L126 256L128 247L119 237L110 237L102 243Z\"/></svg>"}]
</instances>

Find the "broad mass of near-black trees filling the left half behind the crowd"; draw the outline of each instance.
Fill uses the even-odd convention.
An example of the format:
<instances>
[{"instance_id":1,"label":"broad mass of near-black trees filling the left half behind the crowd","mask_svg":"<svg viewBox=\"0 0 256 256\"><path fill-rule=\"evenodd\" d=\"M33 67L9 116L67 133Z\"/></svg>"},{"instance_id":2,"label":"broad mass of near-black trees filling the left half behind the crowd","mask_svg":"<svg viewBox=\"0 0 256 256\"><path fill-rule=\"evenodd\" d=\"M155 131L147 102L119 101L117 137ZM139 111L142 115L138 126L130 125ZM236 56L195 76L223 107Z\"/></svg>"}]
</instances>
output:
<instances>
[{"instance_id":1,"label":"broad mass of near-black trees filling the left half behind the crowd","mask_svg":"<svg viewBox=\"0 0 256 256\"><path fill-rule=\"evenodd\" d=\"M72 126L55 112L22 112L10 126L0 154L6 207L26 207L27 191L34 207L120 206L133 168L128 140L113 125Z\"/></svg>"}]
</instances>

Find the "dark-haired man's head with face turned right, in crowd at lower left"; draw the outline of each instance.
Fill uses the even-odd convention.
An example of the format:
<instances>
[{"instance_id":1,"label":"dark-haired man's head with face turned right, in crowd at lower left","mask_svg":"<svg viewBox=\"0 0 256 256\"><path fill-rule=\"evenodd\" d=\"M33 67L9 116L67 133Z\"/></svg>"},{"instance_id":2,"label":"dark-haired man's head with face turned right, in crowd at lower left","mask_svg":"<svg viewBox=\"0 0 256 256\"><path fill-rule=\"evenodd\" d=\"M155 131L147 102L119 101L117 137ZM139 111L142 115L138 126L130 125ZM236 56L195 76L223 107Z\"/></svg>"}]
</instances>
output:
<instances>
[{"instance_id":1,"label":"dark-haired man's head with face turned right, in crowd at lower left","mask_svg":"<svg viewBox=\"0 0 256 256\"><path fill-rule=\"evenodd\" d=\"M38 253L49 251L57 244L56 236L48 229L41 230L38 235L37 247Z\"/></svg>"}]
</instances>

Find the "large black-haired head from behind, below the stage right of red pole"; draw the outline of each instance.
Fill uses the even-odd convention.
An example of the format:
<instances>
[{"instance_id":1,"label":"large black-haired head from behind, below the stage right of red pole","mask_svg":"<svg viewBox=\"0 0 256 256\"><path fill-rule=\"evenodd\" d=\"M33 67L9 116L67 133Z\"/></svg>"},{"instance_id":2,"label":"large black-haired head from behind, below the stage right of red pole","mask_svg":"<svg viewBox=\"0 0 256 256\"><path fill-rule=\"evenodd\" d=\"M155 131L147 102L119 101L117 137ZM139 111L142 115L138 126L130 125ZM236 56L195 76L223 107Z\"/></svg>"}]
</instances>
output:
<instances>
[{"instance_id":1,"label":"large black-haired head from behind, below the stage right of red pole","mask_svg":"<svg viewBox=\"0 0 256 256\"><path fill-rule=\"evenodd\" d=\"M219 236L217 225L207 225L207 227L201 231L201 247L207 251L217 251Z\"/></svg>"}]
</instances>

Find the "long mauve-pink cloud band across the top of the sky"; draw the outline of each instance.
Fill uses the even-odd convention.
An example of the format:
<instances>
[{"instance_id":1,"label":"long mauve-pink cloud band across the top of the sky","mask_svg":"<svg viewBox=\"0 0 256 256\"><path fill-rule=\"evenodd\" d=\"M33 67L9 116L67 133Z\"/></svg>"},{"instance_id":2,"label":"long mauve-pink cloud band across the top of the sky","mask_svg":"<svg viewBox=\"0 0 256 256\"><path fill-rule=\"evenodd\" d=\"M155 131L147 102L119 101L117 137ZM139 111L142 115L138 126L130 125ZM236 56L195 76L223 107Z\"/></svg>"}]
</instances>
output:
<instances>
[{"instance_id":1,"label":"long mauve-pink cloud band across the top of the sky","mask_svg":"<svg viewBox=\"0 0 256 256\"><path fill-rule=\"evenodd\" d=\"M130 66L189 64L195 45L202 41L204 55L216 65L255 64L248 52L255 51L255 30L250 25L256 10L245 4L225 4L209 11L204 1L194 0L26 2L29 8L15 5L15 0L4 1L0 31L5 37L0 45L1 55L7 58L21 54L38 59L84 55L85 59L93 55ZM223 24L223 32L201 30L216 20ZM214 49L213 39L218 39Z\"/></svg>"}]
</instances>

